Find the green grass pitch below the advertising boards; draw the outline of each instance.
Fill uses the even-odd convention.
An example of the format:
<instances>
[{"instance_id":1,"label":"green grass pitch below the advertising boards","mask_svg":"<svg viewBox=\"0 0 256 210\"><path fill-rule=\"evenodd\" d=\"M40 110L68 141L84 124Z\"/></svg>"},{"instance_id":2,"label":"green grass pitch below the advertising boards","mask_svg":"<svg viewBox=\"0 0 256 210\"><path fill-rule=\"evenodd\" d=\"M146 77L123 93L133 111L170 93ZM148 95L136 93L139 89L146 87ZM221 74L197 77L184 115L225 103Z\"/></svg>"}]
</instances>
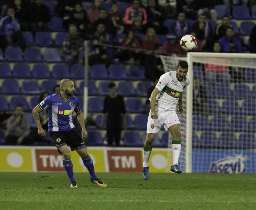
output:
<instances>
[{"instance_id":1,"label":"green grass pitch below the advertising boards","mask_svg":"<svg viewBox=\"0 0 256 210\"><path fill-rule=\"evenodd\" d=\"M0 172L0 209L255 209L254 174L75 173L70 188L66 173Z\"/></svg>"}]
</instances>

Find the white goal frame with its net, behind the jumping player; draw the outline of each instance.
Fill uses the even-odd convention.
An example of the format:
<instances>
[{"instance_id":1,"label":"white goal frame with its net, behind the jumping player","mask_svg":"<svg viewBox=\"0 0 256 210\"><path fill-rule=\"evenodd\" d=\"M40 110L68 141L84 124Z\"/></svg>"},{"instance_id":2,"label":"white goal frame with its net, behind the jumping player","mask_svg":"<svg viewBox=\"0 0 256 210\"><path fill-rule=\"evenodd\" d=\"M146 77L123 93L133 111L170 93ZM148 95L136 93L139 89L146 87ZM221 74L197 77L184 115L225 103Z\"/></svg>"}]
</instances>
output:
<instances>
[{"instance_id":1,"label":"white goal frame with its net, behind the jumping player","mask_svg":"<svg viewBox=\"0 0 256 210\"><path fill-rule=\"evenodd\" d=\"M189 52L161 59L166 71L180 59L189 64L179 115L182 170L256 173L256 55Z\"/></svg>"}]
</instances>

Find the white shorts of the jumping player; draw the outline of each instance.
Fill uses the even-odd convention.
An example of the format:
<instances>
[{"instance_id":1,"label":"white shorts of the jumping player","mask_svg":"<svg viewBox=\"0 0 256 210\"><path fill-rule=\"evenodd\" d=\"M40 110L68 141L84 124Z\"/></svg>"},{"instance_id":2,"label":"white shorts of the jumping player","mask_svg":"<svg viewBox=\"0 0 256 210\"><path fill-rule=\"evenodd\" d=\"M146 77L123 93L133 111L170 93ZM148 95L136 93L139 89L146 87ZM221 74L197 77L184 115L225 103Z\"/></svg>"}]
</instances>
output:
<instances>
[{"instance_id":1,"label":"white shorts of the jumping player","mask_svg":"<svg viewBox=\"0 0 256 210\"><path fill-rule=\"evenodd\" d=\"M163 127L165 131L174 124L180 124L179 118L175 111L165 110L161 107L155 107L155 112L157 113L158 119L151 118L151 111L149 111L147 133L157 134Z\"/></svg>"}]
</instances>

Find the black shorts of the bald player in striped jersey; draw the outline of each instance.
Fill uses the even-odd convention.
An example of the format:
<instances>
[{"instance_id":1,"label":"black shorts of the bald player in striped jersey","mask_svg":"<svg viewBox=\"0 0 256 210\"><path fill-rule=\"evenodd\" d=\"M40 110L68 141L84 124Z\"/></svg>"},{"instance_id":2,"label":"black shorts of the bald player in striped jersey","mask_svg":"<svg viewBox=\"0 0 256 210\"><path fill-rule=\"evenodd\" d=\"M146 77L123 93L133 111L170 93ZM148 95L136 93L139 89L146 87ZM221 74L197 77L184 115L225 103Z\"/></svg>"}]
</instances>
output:
<instances>
[{"instance_id":1,"label":"black shorts of the bald player in striped jersey","mask_svg":"<svg viewBox=\"0 0 256 210\"><path fill-rule=\"evenodd\" d=\"M50 137L52 138L53 143L55 143L58 151L59 148L63 145L69 145L71 151L75 149L82 149L85 147L82 137L77 132L77 129L74 128L70 131L56 131L49 132Z\"/></svg>"}]
</instances>

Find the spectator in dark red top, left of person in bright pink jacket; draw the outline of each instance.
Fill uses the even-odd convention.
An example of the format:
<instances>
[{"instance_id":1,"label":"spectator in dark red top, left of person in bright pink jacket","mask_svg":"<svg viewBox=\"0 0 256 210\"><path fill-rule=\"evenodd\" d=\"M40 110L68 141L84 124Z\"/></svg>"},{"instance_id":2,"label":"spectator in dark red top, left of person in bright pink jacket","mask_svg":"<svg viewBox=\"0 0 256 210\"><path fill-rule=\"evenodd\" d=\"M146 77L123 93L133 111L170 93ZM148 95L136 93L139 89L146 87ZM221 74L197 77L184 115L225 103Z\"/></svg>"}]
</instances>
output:
<instances>
[{"instance_id":1,"label":"spectator in dark red top, left of person in bright pink jacket","mask_svg":"<svg viewBox=\"0 0 256 210\"><path fill-rule=\"evenodd\" d=\"M116 27L116 32L121 34L124 31L123 27L123 16L118 10L118 5L116 2L112 3L111 11L107 14L107 18L112 20L114 26Z\"/></svg>"}]
</instances>

